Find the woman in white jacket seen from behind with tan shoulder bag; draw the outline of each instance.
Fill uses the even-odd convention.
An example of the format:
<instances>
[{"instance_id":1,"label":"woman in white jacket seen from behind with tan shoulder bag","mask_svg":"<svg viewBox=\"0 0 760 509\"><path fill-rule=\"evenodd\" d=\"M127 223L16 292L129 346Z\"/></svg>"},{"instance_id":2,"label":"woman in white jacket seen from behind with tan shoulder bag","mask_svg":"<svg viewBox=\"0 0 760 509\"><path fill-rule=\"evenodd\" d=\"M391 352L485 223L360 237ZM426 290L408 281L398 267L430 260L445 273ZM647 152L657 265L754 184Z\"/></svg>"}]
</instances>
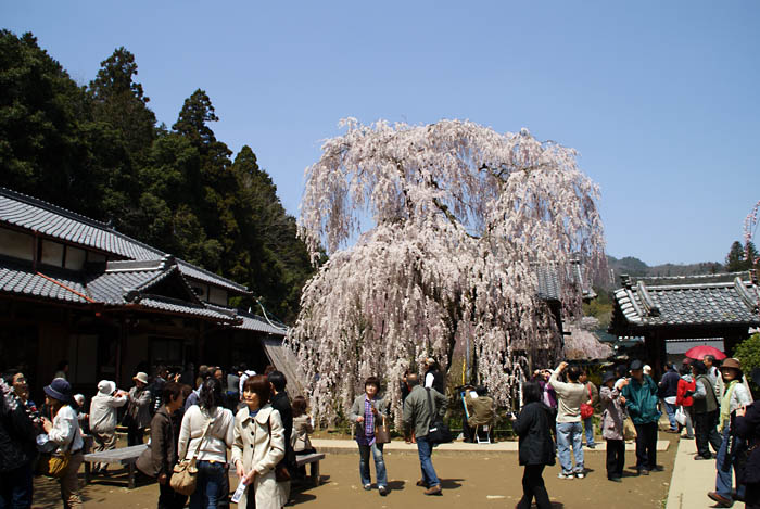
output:
<instances>
[{"instance_id":1,"label":"woman in white jacket seen from behind with tan shoulder bag","mask_svg":"<svg viewBox=\"0 0 760 509\"><path fill-rule=\"evenodd\" d=\"M223 406L221 382L215 378L203 382L199 403L182 417L177 456L192 459L198 451L198 479L190 509L216 509L229 491L227 448L232 447L235 418Z\"/></svg>"}]
</instances>

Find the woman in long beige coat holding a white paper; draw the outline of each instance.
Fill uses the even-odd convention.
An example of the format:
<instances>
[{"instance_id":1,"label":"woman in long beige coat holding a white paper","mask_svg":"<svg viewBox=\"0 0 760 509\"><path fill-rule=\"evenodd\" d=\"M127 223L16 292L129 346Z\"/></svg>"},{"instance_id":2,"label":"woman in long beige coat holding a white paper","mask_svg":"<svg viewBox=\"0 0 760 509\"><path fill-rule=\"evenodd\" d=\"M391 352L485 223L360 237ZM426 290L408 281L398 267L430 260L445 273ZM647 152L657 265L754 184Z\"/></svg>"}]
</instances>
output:
<instances>
[{"instance_id":1,"label":"woman in long beige coat holding a white paper","mask_svg":"<svg viewBox=\"0 0 760 509\"><path fill-rule=\"evenodd\" d=\"M249 507L249 499L255 500L256 509L280 509L288 501L275 479L275 467L284 458L284 428L280 412L267 403L269 393L265 376L250 377L243 384L246 406L235 418L232 444L238 478L248 486L239 508Z\"/></svg>"}]
</instances>

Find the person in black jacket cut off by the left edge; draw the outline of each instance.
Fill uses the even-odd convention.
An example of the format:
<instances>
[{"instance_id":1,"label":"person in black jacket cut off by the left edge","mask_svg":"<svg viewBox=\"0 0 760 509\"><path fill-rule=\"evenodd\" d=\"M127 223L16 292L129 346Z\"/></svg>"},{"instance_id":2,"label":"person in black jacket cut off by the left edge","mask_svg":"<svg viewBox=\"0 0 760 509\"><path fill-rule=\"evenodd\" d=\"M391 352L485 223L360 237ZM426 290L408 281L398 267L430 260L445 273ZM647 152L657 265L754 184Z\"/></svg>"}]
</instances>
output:
<instances>
[{"instance_id":1,"label":"person in black jacket cut off by the left edge","mask_svg":"<svg viewBox=\"0 0 760 509\"><path fill-rule=\"evenodd\" d=\"M0 379L0 507L31 507L35 427L24 406Z\"/></svg>"}]
</instances>

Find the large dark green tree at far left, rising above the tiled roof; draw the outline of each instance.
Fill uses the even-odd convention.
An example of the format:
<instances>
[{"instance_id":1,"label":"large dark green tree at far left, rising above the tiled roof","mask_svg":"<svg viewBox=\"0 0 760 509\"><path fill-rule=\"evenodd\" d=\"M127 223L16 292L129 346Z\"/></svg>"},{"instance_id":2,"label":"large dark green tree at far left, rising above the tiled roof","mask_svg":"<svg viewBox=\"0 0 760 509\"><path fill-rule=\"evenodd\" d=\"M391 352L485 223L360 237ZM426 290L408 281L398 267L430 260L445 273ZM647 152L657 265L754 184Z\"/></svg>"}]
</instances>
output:
<instances>
[{"instance_id":1,"label":"large dark green tree at far left, rising above the tiled roof","mask_svg":"<svg viewBox=\"0 0 760 509\"><path fill-rule=\"evenodd\" d=\"M2 184L101 217L107 184L89 167L85 91L29 33L0 30Z\"/></svg>"}]
</instances>

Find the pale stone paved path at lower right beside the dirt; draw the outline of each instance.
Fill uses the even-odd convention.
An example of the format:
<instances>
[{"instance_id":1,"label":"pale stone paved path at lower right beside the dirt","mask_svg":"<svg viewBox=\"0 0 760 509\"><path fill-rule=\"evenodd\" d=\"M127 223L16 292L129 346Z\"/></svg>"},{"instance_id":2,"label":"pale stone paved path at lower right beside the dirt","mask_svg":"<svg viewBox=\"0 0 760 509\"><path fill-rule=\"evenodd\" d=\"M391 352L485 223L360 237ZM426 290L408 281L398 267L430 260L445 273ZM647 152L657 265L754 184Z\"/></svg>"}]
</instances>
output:
<instances>
[{"instance_id":1,"label":"pale stone paved path at lower right beside the dirt","mask_svg":"<svg viewBox=\"0 0 760 509\"><path fill-rule=\"evenodd\" d=\"M715 488L715 461L695 461L696 454L697 444L693 440L681 438L675 451L667 509L713 507L707 492ZM743 507L743 504L735 504L735 507Z\"/></svg>"}]
</instances>

